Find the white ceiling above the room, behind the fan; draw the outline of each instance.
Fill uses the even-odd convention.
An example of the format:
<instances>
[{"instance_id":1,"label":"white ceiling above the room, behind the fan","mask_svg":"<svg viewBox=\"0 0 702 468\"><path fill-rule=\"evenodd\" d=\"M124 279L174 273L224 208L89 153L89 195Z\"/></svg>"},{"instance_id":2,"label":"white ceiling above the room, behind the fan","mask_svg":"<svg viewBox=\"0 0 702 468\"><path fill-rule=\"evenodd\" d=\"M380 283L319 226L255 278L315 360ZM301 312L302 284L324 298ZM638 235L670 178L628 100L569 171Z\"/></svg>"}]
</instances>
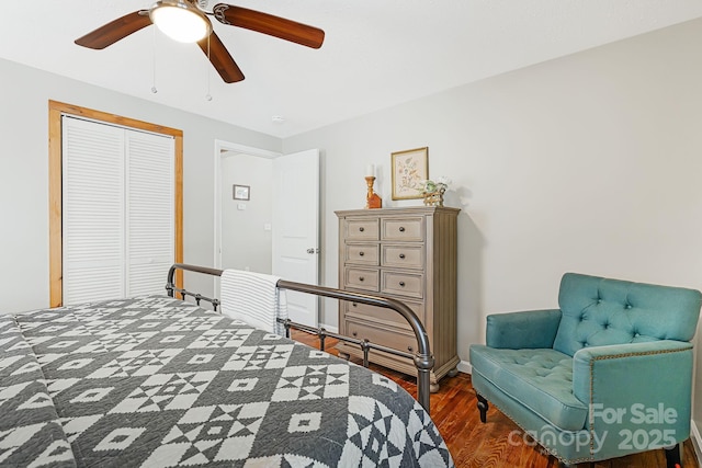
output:
<instances>
[{"instance_id":1,"label":"white ceiling above the room, behind the fan","mask_svg":"<svg viewBox=\"0 0 702 468\"><path fill-rule=\"evenodd\" d=\"M151 0L2 3L2 58L282 138L702 16L700 0L240 0L326 38L316 50L214 20L246 76L226 84L197 45L155 27L73 44Z\"/></svg>"}]
</instances>

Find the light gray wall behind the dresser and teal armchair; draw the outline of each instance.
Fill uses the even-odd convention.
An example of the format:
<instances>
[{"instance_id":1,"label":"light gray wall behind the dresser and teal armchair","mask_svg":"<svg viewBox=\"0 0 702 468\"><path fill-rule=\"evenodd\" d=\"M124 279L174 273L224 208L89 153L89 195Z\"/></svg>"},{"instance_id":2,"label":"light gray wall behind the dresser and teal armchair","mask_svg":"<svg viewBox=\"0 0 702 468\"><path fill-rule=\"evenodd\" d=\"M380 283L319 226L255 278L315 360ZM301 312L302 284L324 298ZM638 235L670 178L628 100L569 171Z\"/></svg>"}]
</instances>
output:
<instances>
[{"instance_id":1,"label":"light gray wall behind the dresser and teal armchair","mask_svg":"<svg viewBox=\"0 0 702 468\"><path fill-rule=\"evenodd\" d=\"M446 204L463 209L464 362L488 313L556 306L564 272L701 288L701 57L694 21L285 139L325 150L325 284L338 283L333 212L363 206L365 165L397 205L390 152L428 146L430 176L450 176ZM333 301L321 321L337 323Z\"/></svg>"}]
</instances>

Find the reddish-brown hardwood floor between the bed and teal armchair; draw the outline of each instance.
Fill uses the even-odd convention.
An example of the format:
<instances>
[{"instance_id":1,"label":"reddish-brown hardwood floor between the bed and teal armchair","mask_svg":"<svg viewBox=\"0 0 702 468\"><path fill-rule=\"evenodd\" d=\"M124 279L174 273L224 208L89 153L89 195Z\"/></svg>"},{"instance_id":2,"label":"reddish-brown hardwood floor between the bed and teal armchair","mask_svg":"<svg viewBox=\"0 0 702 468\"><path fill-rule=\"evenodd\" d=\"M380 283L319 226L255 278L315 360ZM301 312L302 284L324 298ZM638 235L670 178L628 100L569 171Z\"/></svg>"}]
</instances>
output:
<instances>
[{"instance_id":1,"label":"reddish-brown hardwood floor between the bed and teal armchair","mask_svg":"<svg viewBox=\"0 0 702 468\"><path fill-rule=\"evenodd\" d=\"M313 347L319 347L317 336L293 331L293 339ZM336 340L327 339L326 351L337 354ZM359 363L360 364L360 363ZM416 379L395 370L371 364L371 368L399 384L412 397L417 397ZM453 378L444 377L441 389L431 395L431 418L446 441L449 450L458 468L557 468L558 460L533 442L526 443L523 432L509 418L494 407L487 413L487 423L479 420L471 376L458 373ZM516 444L514 442L520 442ZM698 459L691 441L684 443L682 465L697 468ZM580 464L578 468L588 467ZM648 468L665 467L664 450L613 458L593 464L596 468Z\"/></svg>"}]
</instances>

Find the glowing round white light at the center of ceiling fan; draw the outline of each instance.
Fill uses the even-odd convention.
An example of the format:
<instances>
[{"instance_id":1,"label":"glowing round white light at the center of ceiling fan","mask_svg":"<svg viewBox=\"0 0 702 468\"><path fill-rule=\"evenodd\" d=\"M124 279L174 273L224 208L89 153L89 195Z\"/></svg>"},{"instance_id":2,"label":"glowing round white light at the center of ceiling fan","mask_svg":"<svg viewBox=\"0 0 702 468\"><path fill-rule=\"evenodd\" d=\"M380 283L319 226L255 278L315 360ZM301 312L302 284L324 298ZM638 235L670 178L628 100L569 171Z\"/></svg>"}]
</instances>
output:
<instances>
[{"instance_id":1,"label":"glowing round white light at the center of ceiling fan","mask_svg":"<svg viewBox=\"0 0 702 468\"><path fill-rule=\"evenodd\" d=\"M212 24L204 13L180 0L156 2L149 16L163 34L181 43L196 43L212 33Z\"/></svg>"}]
</instances>

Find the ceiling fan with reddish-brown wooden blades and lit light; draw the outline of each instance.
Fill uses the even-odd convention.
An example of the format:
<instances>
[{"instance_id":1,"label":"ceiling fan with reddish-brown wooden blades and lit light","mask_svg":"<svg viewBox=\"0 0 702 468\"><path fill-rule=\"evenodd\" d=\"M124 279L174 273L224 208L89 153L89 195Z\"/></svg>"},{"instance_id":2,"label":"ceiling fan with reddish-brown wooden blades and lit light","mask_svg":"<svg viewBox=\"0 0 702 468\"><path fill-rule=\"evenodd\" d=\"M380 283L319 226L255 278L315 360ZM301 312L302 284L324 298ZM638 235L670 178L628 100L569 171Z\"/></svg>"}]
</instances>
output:
<instances>
[{"instance_id":1,"label":"ceiling fan with reddish-brown wooden blades and lit light","mask_svg":"<svg viewBox=\"0 0 702 468\"><path fill-rule=\"evenodd\" d=\"M212 27L207 16L219 23L257 31L312 48L321 47L320 28L274 16L257 10L217 3L205 10L205 0L159 0L148 10L125 14L76 39L79 46L103 49L146 26L156 24L180 42L197 42L222 79L227 83L244 80L244 73Z\"/></svg>"}]
</instances>

